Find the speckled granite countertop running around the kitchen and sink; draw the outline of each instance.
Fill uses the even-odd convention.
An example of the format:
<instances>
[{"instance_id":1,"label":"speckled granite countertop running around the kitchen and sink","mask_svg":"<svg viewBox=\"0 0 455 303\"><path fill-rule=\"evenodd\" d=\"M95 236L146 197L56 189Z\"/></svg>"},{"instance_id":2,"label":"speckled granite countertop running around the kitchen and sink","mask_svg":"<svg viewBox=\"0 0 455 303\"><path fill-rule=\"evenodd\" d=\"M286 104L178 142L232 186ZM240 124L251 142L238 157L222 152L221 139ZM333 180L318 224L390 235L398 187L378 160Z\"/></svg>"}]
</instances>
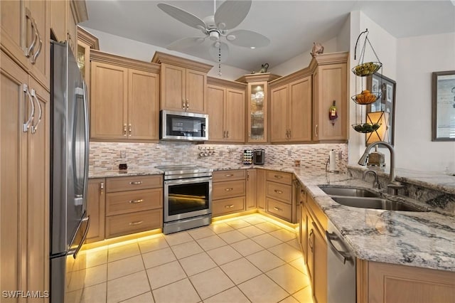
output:
<instances>
[{"instance_id":1,"label":"speckled granite countertop running around the kitchen and sink","mask_svg":"<svg viewBox=\"0 0 455 303\"><path fill-rule=\"evenodd\" d=\"M318 185L362 186L371 184L353 178L348 173L326 174L324 171L287 166L244 166L213 167L214 171L227 169L270 169L294 173L306 187L307 193L319 204L326 216L336 225L353 248L355 256L369 261L425 267L455 272L455 216L436 212L426 203L406 199L429 212L383 211L368 208L343 206L333 201ZM350 168L359 169L363 166ZM385 173L379 173L387 175ZM90 171L90 178L112 176L137 176L162 174L154 167L129 170L127 174L118 171ZM402 175L401 175L402 174ZM455 193L452 176L441 174L413 174L397 170L397 180L410 184L424 185L446 193ZM453 177L455 178L455 177ZM384 191L384 190L383 190ZM383 193L382 194L385 194ZM395 197L397 198L397 197ZM397 199L400 199L398 197Z\"/></svg>"}]
</instances>

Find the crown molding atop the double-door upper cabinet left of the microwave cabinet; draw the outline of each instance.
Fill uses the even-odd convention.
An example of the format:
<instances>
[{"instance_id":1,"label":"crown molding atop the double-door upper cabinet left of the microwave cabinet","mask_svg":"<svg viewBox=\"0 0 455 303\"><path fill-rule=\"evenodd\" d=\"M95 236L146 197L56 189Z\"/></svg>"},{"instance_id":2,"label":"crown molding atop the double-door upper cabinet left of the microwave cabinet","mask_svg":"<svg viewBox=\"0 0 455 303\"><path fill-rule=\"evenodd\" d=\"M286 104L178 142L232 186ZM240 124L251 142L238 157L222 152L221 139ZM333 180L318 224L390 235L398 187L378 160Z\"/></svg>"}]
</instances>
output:
<instances>
[{"instance_id":1,"label":"crown molding atop the double-door upper cabinet left of the microwave cabinet","mask_svg":"<svg viewBox=\"0 0 455 303\"><path fill-rule=\"evenodd\" d=\"M123 66L124 68L134 68L136 70L144 70L150 73L159 73L161 66L156 63L148 63L141 60L135 60L130 58L124 58L119 55L112 53L104 53L100 50L90 50L90 60L97 62L115 64Z\"/></svg>"}]
</instances>

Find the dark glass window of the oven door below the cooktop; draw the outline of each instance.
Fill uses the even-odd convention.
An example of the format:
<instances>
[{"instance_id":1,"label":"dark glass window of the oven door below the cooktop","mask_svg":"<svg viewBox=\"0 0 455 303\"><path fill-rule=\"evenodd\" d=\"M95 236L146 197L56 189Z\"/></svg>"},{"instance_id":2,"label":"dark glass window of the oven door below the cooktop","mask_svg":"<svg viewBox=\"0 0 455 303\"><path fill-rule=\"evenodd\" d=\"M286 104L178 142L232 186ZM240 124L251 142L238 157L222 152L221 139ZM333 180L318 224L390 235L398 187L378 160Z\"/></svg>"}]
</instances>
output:
<instances>
[{"instance_id":1,"label":"dark glass window of the oven door below the cooktop","mask_svg":"<svg viewBox=\"0 0 455 303\"><path fill-rule=\"evenodd\" d=\"M170 185L168 216L208 209L208 182Z\"/></svg>"}]
</instances>

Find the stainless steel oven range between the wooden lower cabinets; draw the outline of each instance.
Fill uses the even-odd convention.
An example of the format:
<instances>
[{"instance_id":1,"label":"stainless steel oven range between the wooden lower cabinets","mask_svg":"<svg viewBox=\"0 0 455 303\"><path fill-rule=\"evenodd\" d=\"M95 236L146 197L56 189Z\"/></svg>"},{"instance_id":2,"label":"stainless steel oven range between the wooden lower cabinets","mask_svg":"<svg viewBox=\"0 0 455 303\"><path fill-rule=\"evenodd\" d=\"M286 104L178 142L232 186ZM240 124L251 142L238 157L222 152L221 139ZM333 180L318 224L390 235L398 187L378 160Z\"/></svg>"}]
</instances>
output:
<instances>
[{"instance_id":1,"label":"stainless steel oven range between the wooden lower cabinets","mask_svg":"<svg viewBox=\"0 0 455 303\"><path fill-rule=\"evenodd\" d=\"M212 172L196 165L156 166L164 171L163 233L209 225L212 220Z\"/></svg>"}]
</instances>

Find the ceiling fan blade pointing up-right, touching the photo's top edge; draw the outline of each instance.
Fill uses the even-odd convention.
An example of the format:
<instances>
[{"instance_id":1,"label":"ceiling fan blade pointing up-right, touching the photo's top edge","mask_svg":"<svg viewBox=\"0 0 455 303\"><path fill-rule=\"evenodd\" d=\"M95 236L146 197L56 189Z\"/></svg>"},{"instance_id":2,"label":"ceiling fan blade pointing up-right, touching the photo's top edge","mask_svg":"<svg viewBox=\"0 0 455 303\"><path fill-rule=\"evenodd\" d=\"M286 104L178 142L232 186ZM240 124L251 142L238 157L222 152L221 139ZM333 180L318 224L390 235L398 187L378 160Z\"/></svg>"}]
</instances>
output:
<instances>
[{"instance_id":1,"label":"ceiling fan blade pointing up-right, touching the photo's top edge","mask_svg":"<svg viewBox=\"0 0 455 303\"><path fill-rule=\"evenodd\" d=\"M215 24L219 29L232 29L239 25L251 8L251 0L226 0L215 11Z\"/></svg>"}]
</instances>

